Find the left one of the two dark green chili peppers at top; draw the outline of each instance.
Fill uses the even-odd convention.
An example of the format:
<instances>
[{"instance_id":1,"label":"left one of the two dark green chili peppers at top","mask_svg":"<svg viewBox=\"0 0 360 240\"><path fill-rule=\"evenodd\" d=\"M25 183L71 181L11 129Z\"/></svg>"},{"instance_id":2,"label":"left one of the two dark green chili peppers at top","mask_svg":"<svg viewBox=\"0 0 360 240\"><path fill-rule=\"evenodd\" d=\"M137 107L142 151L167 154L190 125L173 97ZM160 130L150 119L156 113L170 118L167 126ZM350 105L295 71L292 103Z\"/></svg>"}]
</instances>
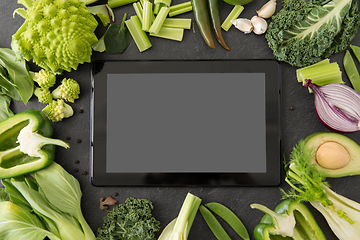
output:
<instances>
[{"instance_id":1,"label":"left one of the two dark green chili peppers at top","mask_svg":"<svg viewBox=\"0 0 360 240\"><path fill-rule=\"evenodd\" d=\"M215 42L211 33L210 16L207 0L191 0L194 18L206 44L215 49Z\"/></svg>"}]
</instances>

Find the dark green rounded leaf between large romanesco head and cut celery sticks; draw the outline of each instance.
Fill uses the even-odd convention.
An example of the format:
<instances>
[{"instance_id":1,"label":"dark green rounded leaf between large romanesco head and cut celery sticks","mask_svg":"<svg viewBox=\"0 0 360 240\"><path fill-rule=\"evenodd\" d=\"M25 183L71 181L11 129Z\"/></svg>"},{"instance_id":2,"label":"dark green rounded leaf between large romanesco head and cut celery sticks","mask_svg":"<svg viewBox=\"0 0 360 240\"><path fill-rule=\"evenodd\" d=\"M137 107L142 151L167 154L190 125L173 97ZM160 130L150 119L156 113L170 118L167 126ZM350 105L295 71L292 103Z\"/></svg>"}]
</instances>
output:
<instances>
[{"instance_id":1,"label":"dark green rounded leaf between large romanesco head and cut celery sticks","mask_svg":"<svg viewBox=\"0 0 360 240\"><path fill-rule=\"evenodd\" d=\"M125 26L126 13L124 14L121 25L112 22L104 35L106 52L110 54L122 53L131 42L131 35Z\"/></svg>"}]
</instances>

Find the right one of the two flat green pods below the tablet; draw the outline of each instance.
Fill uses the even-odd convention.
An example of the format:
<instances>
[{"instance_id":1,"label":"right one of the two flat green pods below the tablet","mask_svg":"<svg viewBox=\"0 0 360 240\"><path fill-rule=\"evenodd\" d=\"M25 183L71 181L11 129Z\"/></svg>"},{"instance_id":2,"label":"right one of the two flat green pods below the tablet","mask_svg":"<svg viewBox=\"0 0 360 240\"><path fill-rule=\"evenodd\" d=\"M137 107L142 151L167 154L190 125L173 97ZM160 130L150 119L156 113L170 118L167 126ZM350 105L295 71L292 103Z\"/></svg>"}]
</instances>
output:
<instances>
[{"instance_id":1,"label":"right one of the two flat green pods below the tablet","mask_svg":"<svg viewBox=\"0 0 360 240\"><path fill-rule=\"evenodd\" d=\"M240 237L245 240L250 239L249 233L246 230L244 224L230 209L220 203L215 202L205 204L205 206L224 219L225 222L227 222Z\"/></svg>"}]
</instances>

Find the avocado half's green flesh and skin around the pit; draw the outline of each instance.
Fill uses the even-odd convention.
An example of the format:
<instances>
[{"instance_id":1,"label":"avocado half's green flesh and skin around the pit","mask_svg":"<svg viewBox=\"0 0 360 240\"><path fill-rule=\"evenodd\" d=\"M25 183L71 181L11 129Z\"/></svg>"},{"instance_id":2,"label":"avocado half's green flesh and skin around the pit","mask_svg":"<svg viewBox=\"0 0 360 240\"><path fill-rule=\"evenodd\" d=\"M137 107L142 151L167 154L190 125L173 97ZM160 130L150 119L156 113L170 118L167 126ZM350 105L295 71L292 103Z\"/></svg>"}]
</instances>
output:
<instances>
[{"instance_id":1,"label":"avocado half's green flesh and skin around the pit","mask_svg":"<svg viewBox=\"0 0 360 240\"><path fill-rule=\"evenodd\" d=\"M314 154L311 163L314 164L319 171L323 171L325 177L337 178L360 174L360 146L350 138L339 133L320 132L308 136L305 141L305 148L313 149L315 153L319 147L326 142L338 143L348 152L350 161L345 166L337 169L322 167L318 164L316 154Z\"/></svg>"}]
</instances>

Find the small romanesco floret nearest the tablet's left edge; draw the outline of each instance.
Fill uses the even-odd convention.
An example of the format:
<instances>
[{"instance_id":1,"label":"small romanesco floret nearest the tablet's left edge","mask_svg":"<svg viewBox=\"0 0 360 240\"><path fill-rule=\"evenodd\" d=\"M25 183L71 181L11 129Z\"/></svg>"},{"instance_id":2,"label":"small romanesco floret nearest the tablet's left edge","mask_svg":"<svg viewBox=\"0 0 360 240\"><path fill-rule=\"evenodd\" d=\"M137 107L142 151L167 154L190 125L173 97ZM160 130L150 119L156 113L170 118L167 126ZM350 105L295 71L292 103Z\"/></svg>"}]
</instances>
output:
<instances>
[{"instance_id":1,"label":"small romanesco floret nearest the tablet's left edge","mask_svg":"<svg viewBox=\"0 0 360 240\"><path fill-rule=\"evenodd\" d=\"M71 78L64 78L61 85L52 92L53 98L62 98L72 103L75 99L79 98L79 94L80 86L74 79Z\"/></svg>"}]
</instances>

